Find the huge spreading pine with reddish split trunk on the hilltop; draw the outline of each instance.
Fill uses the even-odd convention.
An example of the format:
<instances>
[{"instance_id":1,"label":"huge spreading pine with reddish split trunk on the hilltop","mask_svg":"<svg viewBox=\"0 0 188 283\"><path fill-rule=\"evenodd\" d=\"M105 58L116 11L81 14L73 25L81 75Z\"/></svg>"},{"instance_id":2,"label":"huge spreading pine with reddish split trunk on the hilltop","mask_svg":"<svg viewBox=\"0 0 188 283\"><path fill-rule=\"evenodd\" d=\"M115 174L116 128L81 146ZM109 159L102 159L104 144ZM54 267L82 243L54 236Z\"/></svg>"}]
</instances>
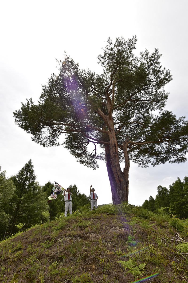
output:
<instances>
[{"instance_id":1,"label":"huge spreading pine with reddish split trunk on the hilltop","mask_svg":"<svg viewBox=\"0 0 188 283\"><path fill-rule=\"evenodd\" d=\"M37 143L59 145L65 134L64 146L81 164L96 169L104 160L114 204L128 200L130 159L143 167L185 162L188 150L185 117L164 110L172 75L158 49L135 56L136 40L109 38L98 56L102 74L81 70L65 55L38 104L30 98L14 112L15 123Z\"/></svg>"}]
</instances>

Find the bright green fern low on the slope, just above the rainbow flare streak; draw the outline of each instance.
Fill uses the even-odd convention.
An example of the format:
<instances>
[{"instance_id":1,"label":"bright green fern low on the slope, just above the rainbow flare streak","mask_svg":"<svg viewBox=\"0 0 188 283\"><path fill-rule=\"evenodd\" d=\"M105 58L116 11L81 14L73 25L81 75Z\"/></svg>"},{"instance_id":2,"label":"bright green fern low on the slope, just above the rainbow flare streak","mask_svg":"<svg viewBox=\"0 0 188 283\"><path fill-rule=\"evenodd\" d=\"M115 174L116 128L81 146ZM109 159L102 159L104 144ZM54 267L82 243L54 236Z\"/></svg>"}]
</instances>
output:
<instances>
[{"instance_id":1,"label":"bright green fern low on the slope, just above the rainbow flare streak","mask_svg":"<svg viewBox=\"0 0 188 283\"><path fill-rule=\"evenodd\" d=\"M134 278L136 278L136 276L138 275L142 275L145 271L145 263L140 263L138 266L134 263L134 261L130 258L128 261L118 261L118 263L121 263L121 265L126 269L128 268L129 270L126 272L127 273L131 273Z\"/></svg>"}]
</instances>

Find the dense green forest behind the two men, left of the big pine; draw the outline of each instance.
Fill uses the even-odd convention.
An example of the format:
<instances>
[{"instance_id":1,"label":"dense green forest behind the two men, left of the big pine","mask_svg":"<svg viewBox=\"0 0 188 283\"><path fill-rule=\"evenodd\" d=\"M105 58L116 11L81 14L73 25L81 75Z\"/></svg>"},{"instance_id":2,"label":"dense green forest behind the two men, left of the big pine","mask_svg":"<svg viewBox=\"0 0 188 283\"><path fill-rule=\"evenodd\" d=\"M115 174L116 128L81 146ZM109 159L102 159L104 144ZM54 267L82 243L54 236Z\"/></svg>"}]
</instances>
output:
<instances>
[{"instance_id":1,"label":"dense green forest behind the two men, left of the big pine","mask_svg":"<svg viewBox=\"0 0 188 283\"><path fill-rule=\"evenodd\" d=\"M1 167L0 167L1 169ZM0 241L36 224L56 220L64 216L63 190L56 200L47 203L54 184L50 181L39 185L30 159L21 170L10 178L0 171ZM81 194L77 186L69 186L72 192L72 210L90 203L89 196Z\"/></svg>"}]
</instances>

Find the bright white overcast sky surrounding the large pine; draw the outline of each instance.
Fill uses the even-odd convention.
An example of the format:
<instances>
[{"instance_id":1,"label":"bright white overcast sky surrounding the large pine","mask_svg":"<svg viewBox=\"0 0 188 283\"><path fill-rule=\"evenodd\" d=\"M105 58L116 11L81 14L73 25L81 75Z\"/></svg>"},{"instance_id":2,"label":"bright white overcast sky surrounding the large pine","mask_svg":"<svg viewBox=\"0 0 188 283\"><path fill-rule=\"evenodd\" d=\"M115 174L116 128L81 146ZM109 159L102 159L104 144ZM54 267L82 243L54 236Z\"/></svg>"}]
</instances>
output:
<instances>
[{"instance_id":1,"label":"bright white overcast sky surrounding the large pine","mask_svg":"<svg viewBox=\"0 0 188 283\"><path fill-rule=\"evenodd\" d=\"M92 170L60 147L43 148L14 124L13 111L26 98L37 102L41 85L57 73L56 59L64 52L80 68L100 72L97 56L108 37L125 39L136 35L136 54L159 48L161 63L173 74L165 90L170 92L166 108L177 116L187 107L187 1L96 0L96 1L2 1L0 10L0 165L6 177L16 174L31 158L37 181L57 181L67 188L76 184L89 195L90 185L98 204L112 202L106 165ZM177 176L188 174L187 164L164 164L147 169L131 163L129 202L142 205L157 194L157 186L168 186ZM123 168L123 165L122 165Z\"/></svg>"}]
</instances>

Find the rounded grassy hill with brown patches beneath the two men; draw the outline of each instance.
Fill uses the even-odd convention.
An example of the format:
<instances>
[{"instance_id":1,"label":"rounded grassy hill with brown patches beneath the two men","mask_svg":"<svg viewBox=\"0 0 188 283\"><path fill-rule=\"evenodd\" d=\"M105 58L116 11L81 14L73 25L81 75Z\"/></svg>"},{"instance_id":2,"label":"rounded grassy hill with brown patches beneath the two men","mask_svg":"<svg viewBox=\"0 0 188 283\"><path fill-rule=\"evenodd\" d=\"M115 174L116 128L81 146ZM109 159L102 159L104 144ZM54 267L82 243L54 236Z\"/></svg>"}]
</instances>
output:
<instances>
[{"instance_id":1,"label":"rounded grassy hill with brown patches beneath the two men","mask_svg":"<svg viewBox=\"0 0 188 283\"><path fill-rule=\"evenodd\" d=\"M0 243L0 282L188 282L188 221L129 204L83 207Z\"/></svg>"}]
</instances>

